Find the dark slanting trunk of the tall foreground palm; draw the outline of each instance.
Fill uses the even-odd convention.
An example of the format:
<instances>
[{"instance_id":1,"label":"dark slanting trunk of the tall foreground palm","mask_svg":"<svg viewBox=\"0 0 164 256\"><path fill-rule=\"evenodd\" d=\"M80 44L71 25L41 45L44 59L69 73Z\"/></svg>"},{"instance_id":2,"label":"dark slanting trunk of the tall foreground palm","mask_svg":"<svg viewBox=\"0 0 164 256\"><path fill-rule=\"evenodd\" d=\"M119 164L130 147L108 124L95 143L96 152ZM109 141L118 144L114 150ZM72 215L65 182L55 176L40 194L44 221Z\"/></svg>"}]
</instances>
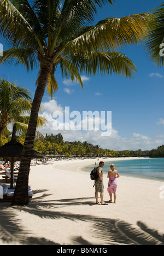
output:
<instances>
[{"instance_id":1,"label":"dark slanting trunk of the tall foreground palm","mask_svg":"<svg viewBox=\"0 0 164 256\"><path fill-rule=\"evenodd\" d=\"M51 69L52 63L50 61L44 61L43 65L40 67L38 86L32 103L30 121L28 124L24 148L22 150L19 175L17 177L15 193L11 205L28 205L28 176L30 172L34 137L37 128L38 112Z\"/></svg>"}]
</instances>

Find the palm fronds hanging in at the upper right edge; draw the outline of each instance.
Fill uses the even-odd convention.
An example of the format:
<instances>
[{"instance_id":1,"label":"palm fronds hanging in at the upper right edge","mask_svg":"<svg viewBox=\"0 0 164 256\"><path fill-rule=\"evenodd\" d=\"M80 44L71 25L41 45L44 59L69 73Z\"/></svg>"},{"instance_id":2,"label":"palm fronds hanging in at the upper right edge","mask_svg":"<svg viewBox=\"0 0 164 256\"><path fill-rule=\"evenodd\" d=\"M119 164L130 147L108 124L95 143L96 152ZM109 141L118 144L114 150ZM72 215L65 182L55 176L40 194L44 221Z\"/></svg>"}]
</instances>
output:
<instances>
[{"instance_id":1,"label":"palm fronds hanging in at the upper right edge","mask_svg":"<svg viewBox=\"0 0 164 256\"><path fill-rule=\"evenodd\" d=\"M145 39L145 49L150 57L150 60L157 65L157 67L164 66L164 2L160 7L152 10L153 18L150 20L150 30Z\"/></svg>"}]
</instances>

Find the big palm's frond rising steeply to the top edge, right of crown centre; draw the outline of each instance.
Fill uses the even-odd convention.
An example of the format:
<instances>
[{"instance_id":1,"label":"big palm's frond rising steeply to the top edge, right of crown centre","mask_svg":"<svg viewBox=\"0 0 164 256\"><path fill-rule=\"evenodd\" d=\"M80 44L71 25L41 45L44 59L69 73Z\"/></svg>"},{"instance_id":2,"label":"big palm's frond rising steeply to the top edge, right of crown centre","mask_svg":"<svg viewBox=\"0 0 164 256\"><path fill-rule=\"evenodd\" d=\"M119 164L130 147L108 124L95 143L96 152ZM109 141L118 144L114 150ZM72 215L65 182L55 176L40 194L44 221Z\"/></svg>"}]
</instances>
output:
<instances>
[{"instance_id":1,"label":"big palm's frond rising steeply to the top edge, right of crown centre","mask_svg":"<svg viewBox=\"0 0 164 256\"><path fill-rule=\"evenodd\" d=\"M101 8L104 4L113 2L114 0L65 0L54 26L54 42L50 54L52 55L58 38L62 42L68 42L70 34L93 22L97 7Z\"/></svg>"}]
</instances>

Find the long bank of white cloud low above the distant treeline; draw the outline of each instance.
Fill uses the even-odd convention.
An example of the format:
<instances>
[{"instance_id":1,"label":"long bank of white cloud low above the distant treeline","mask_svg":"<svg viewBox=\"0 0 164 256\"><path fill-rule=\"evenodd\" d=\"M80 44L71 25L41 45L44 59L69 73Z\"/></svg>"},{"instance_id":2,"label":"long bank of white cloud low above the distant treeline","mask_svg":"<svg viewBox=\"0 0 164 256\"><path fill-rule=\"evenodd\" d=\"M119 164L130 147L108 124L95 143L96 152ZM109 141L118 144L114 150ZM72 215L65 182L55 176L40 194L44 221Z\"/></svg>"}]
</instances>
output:
<instances>
[{"instance_id":1,"label":"long bank of white cloud low above the distant treeline","mask_svg":"<svg viewBox=\"0 0 164 256\"><path fill-rule=\"evenodd\" d=\"M122 137L119 135L119 131L115 130L114 127L112 127L112 133L110 134L109 131L102 131L102 130L81 130L82 127L87 127L87 121L84 117L80 117L80 122L77 122L77 129L75 127L75 115L77 115L76 112L72 114L73 121L66 121L66 124L64 124L64 119L61 118L61 120L56 120L55 117L57 117L57 114L60 115L60 113L68 114L68 109L63 109L61 105L58 105L55 100L51 100L49 102L44 102L42 104L43 107L43 114L42 116L48 120L48 124L46 127L41 127L39 129L40 132L43 133L45 136L46 133L48 134L57 134L58 132L61 132L63 135L64 141L87 141L89 143L92 143L93 145L99 145L102 148L108 148L113 150L138 150L139 148L142 150L151 150L153 148L157 148L164 144L164 134L157 134L154 137L148 137L146 135L142 135L140 133L134 132L132 135L127 137ZM55 115L53 113L55 112ZM79 113L80 114L80 113ZM53 118L54 117L54 118ZM70 120L71 120L70 118ZM95 124L98 119L95 119ZM54 121L56 123L54 123ZM91 118L89 118L89 122L92 121ZM101 119L101 123L105 123L106 120ZM164 120L160 119L160 123L164 124ZM54 126L53 126L54 124ZM60 127L61 130L54 130L55 124ZM63 130L63 125L65 125L66 129ZM111 123L108 125L112 125ZM71 128L70 128L71 127ZM79 129L79 130L78 130Z\"/></svg>"}]
</instances>

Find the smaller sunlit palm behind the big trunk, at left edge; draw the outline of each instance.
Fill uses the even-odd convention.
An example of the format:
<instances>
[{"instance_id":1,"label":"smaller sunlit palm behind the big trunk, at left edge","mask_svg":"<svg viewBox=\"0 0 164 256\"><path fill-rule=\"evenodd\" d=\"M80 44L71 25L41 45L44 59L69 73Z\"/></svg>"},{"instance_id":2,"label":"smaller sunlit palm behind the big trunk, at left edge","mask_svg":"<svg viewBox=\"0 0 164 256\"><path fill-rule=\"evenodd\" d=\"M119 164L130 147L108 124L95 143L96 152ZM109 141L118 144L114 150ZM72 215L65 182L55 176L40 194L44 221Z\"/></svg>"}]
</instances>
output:
<instances>
[{"instance_id":1,"label":"smaller sunlit palm behind the big trunk, at left edge","mask_svg":"<svg viewBox=\"0 0 164 256\"><path fill-rule=\"evenodd\" d=\"M7 126L13 123L13 137L16 131L24 132L28 128L32 102L31 92L22 88L16 83L10 83L8 80L0 79L0 138L3 131L7 131ZM37 127L43 126L46 119L38 117ZM41 133L37 130L36 134L40 137Z\"/></svg>"}]
</instances>

